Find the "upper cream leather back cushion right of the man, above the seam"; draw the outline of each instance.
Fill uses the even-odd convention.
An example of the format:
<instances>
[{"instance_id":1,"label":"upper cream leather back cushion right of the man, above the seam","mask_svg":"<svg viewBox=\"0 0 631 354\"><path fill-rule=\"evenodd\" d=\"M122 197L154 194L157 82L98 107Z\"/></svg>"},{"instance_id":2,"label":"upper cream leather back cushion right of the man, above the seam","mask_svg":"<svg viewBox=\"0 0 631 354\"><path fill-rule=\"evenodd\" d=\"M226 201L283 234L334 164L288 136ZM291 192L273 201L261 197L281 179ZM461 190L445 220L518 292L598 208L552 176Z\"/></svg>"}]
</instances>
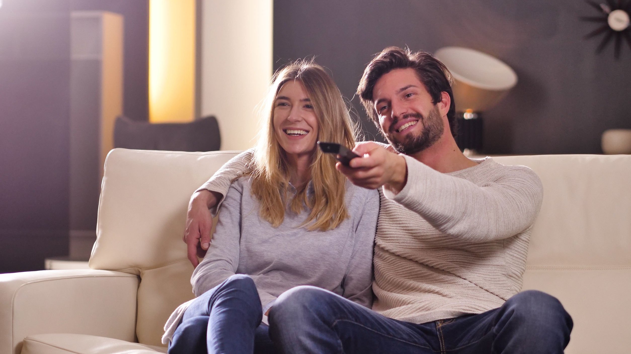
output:
<instances>
[{"instance_id":1,"label":"upper cream leather back cushion right of the man, above the seam","mask_svg":"<svg viewBox=\"0 0 631 354\"><path fill-rule=\"evenodd\" d=\"M493 159L528 166L543 183L527 266L631 266L631 155Z\"/></svg>"}]
</instances>

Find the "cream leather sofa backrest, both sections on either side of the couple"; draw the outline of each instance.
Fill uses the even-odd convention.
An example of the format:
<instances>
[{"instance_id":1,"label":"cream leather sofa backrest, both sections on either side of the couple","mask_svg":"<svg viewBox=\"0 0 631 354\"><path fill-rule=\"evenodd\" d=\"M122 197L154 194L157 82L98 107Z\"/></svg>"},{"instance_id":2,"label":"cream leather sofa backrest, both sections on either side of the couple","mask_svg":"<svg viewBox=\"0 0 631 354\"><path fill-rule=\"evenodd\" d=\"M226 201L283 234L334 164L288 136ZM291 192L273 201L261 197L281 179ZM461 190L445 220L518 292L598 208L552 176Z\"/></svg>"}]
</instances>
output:
<instances>
[{"instance_id":1,"label":"cream leather sofa backrest, both sections on either side of the couple","mask_svg":"<svg viewBox=\"0 0 631 354\"><path fill-rule=\"evenodd\" d=\"M107 157L90 266L141 277L140 343L160 345L168 315L192 299L182 242L187 203L235 154L114 149ZM574 318L566 353L628 352L631 156L494 159L529 166L543 182L523 288L556 296Z\"/></svg>"}]
</instances>

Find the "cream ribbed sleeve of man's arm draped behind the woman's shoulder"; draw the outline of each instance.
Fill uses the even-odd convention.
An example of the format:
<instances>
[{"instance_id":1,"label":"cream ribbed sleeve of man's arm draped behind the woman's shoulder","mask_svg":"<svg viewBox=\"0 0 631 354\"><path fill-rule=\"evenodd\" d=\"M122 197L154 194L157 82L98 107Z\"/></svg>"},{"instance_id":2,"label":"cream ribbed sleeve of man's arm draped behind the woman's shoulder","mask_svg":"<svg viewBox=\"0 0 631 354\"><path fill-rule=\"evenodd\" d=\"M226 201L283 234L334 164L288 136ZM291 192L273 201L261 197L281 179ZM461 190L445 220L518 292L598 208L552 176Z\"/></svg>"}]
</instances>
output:
<instances>
[{"instance_id":1,"label":"cream ribbed sleeve of man's arm draped behind the woman's shoulder","mask_svg":"<svg viewBox=\"0 0 631 354\"><path fill-rule=\"evenodd\" d=\"M227 163L223 164L223 166L221 166L221 168L218 169L218 171L216 171L215 174L206 181L206 183L196 190L216 191L221 194L221 200L217 202L215 207L210 209L213 217L217 215L217 211L221 207L221 203L225 200L226 193L228 193L228 188L230 188L232 181L244 174L247 170L247 166L252 163L252 159L254 159L254 149L241 152L239 155L232 157L232 159L228 160Z\"/></svg>"}]
</instances>

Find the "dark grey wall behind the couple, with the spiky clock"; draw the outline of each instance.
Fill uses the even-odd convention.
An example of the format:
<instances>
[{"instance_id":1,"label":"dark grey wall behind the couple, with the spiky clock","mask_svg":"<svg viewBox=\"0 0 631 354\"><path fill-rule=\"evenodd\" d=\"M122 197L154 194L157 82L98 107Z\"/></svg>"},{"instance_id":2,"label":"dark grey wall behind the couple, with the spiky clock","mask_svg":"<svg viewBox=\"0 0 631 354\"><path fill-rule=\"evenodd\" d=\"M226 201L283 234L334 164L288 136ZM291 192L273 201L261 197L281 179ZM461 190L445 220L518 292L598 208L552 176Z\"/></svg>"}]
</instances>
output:
<instances>
[{"instance_id":1,"label":"dark grey wall behind the couple, with the spiky clock","mask_svg":"<svg viewBox=\"0 0 631 354\"><path fill-rule=\"evenodd\" d=\"M598 154L604 130L631 128L631 50L625 45L617 61L613 45L596 55L601 37L582 36L597 25L579 20L595 14L575 0L275 0L274 69L316 55L351 98L365 65L387 46L481 50L519 76L485 112L485 152ZM377 135L352 103L369 137Z\"/></svg>"}]
</instances>

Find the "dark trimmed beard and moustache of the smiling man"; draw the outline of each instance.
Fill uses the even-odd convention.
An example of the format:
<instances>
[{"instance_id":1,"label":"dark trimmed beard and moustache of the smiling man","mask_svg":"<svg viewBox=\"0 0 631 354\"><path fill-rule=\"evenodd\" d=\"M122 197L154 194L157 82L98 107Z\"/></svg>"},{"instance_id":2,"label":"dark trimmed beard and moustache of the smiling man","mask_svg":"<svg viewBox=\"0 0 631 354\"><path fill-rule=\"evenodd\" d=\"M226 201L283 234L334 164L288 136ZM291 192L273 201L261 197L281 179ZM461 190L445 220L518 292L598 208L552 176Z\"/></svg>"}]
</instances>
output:
<instances>
[{"instance_id":1,"label":"dark trimmed beard and moustache of the smiling man","mask_svg":"<svg viewBox=\"0 0 631 354\"><path fill-rule=\"evenodd\" d=\"M406 155L415 154L432 146L442 136L445 125L442 122L437 106L432 108L427 117L423 117L420 113L408 113L403 115L401 120L407 118L418 119L416 124L423 124L423 130L420 135L408 134L401 141L394 139L391 134L386 134L386 139L397 152ZM398 121L392 122L392 125L390 125L391 131L394 130L393 127Z\"/></svg>"}]
</instances>

